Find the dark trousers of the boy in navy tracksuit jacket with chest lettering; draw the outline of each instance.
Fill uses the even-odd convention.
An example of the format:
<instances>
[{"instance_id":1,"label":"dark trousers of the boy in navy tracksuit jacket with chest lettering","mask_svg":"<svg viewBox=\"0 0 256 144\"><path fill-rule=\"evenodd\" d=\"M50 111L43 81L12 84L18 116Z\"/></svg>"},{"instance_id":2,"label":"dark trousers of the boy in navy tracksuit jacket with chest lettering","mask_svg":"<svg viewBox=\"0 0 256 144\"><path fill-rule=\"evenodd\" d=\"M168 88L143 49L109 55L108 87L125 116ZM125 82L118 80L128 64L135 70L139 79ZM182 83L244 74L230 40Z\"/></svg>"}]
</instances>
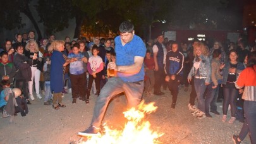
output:
<instances>
[{"instance_id":1,"label":"dark trousers of the boy in navy tracksuit jacket with chest lettering","mask_svg":"<svg viewBox=\"0 0 256 144\"><path fill-rule=\"evenodd\" d=\"M176 76L175 80L170 80L167 83L169 90L171 91L171 95L173 95L173 103L176 104L179 85L180 85L180 76Z\"/></svg>"}]
</instances>

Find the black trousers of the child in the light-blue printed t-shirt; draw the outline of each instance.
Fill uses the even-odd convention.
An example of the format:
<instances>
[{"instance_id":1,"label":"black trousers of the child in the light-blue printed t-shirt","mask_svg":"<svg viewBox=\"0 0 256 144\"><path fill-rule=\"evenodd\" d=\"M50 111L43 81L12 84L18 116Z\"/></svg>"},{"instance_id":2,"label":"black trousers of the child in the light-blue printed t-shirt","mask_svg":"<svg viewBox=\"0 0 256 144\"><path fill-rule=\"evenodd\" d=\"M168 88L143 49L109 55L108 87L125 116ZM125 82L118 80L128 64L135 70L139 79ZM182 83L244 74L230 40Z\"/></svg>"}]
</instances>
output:
<instances>
[{"instance_id":1,"label":"black trousers of the child in the light-blue printed t-shirt","mask_svg":"<svg viewBox=\"0 0 256 144\"><path fill-rule=\"evenodd\" d=\"M70 74L72 98L78 98L78 95L85 99L85 73L80 75Z\"/></svg>"}]
</instances>

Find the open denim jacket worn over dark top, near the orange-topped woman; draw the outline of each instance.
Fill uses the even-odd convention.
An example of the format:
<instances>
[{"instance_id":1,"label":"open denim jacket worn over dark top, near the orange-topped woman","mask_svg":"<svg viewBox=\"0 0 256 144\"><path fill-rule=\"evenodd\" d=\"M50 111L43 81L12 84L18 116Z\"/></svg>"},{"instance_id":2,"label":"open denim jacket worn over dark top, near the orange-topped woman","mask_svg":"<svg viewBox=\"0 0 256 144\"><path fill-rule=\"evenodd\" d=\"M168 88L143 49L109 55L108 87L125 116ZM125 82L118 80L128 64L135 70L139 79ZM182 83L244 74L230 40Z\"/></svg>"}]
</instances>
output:
<instances>
[{"instance_id":1,"label":"open denim jacket worn over dark top, near the orange-topped woman","mask_svg":"<svg viewBox=\"0 0 256 144\"><path fill-rule=\"evenodd\" d=\"M228 73L229 73L229 68L230 68L230 61L225 63L224 68L222 69L222 71L220 72L220 74L222 75L222 84L226 85L227 80L228 80ZM236 66L236 78L238 76L238 73L241 73L241 71L243 71L243 69L245 69L245 66L243 66L242 63L238 62L237 66Z\"/></svg>"}]
</instances>

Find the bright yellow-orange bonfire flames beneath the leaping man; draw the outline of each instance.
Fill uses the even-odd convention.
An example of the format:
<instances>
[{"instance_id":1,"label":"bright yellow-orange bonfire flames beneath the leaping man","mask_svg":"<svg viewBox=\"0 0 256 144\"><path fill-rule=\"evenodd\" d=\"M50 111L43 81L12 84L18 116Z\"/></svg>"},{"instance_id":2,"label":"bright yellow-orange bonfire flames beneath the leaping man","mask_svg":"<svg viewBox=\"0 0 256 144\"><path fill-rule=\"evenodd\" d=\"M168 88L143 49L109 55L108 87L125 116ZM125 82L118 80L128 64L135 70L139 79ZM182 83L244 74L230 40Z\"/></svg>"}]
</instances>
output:
<instances>
[{"instance_id":1,"label":"bright yellow-orange bonfire flames beneath the leaping man","mask_svg":"<svg viewBox=\"0 0 256 144\"><path fill-rule=\"evenodd\" d=\"M150 114L156 111L157 107L155 107L154 104L154 102L145 104L144 101L142 101L137 109L132 107L130 110L123 112L126 119L128 119L128 123L125 124L123 129L110 129L108 126L104 126L104 135L92 136L82 143L160 143L158 139L163 133L150 130L149 121L143 121L145 113Z\"/></svg>"}]
</instances>

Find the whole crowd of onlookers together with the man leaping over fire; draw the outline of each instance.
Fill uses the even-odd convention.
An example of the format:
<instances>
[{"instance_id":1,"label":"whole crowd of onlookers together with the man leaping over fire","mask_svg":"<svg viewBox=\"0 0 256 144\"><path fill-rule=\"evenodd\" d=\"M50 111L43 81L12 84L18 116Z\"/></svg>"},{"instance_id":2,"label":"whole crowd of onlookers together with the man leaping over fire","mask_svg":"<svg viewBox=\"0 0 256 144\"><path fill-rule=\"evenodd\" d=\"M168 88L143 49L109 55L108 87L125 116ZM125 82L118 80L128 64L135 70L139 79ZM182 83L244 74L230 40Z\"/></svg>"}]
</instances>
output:
<instances>
[{"instance_id":1,"label":"whole crowd of onlookers together with the man leaping over fire","mask_svg":"<svg viewBox=\"0 0 256 144\"><path fill-rule=\"evenodd\" d=\"M220 115L217 102L222 102L221 121L227 121L230 109L228 123L236 119L244 122L240 135L234 135L233 139L239 143L250 132L251 138L254 136L251 140L256 143L256 126L252 122L256 119L252 114L256 102L256 45L246 45L244 39L229 43L218 40L178 43L164 38L162 33L143 42L130 23L122 23L119 30L120 36L115 39L95 37L92 42L83 37L55 40L54 35L39 42L34 31L18 33L15 40L6 40L0 49L1 111L8 113L4 107L10 87L20 88L23 105L32 104L35 97L44 97L44 105L52 105L54 109L66 107L62 102L64 93L71 93L73 104L77 99L89 104L92 92L99 99L92 126L80 133L83 135L99 131L106 106L118 93L125 92L128 104L136 106L142 99L141 93L143 97L158 97L168 88L172 95L170 107L175 109L179 90L187 92L191 85L188 109L193 116L203 119L212 117L210 112ZM16 112L21 109L9 115ZM22 116L24 112L27 114L28 109L21 112Z\"/></svg>"}]
</instances>

